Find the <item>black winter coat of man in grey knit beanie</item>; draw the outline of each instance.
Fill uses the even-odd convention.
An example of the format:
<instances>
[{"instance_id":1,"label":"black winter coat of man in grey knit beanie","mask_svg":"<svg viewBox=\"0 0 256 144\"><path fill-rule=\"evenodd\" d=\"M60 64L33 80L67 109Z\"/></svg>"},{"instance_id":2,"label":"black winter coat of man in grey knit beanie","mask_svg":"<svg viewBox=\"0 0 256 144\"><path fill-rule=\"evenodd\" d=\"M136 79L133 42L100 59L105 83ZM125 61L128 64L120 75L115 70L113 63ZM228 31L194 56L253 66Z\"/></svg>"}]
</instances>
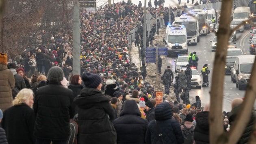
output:
<instances>
[{"instance_id":1,"label":"black winter coat of man in grey knit beanie","mask_svg":"<svg viewBox=\"0 0 256 144\"><path fill-rule=\"evenodd\" d=\"M39 87L33 109L36 115L34 136L47 140L67 140L69 119L73 117L73 91L61 84Z\"/></svg>"}]
</instances>

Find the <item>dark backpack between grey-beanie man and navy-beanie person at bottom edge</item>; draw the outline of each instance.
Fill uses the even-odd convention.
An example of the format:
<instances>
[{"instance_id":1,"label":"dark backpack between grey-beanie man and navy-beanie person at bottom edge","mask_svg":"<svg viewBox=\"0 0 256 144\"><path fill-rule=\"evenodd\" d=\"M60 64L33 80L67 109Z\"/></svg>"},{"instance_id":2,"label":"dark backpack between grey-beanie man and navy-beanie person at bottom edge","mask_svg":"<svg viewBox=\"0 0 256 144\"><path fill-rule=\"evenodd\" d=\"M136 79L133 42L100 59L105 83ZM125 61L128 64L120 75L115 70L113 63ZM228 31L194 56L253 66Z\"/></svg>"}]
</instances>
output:
<instances>
[{"instance_id":1,"label":"dark backpack between grey-beanie man and navy-beanie person at bottom edge","mask_svg":"<svg viewBox=\"0 0 256 144\"><path fill-rule=\"evenodd\" d=\"M67 144L77 144L78 125L75 121L69 121L69 136Z\"/></svg>"}]
</instances>

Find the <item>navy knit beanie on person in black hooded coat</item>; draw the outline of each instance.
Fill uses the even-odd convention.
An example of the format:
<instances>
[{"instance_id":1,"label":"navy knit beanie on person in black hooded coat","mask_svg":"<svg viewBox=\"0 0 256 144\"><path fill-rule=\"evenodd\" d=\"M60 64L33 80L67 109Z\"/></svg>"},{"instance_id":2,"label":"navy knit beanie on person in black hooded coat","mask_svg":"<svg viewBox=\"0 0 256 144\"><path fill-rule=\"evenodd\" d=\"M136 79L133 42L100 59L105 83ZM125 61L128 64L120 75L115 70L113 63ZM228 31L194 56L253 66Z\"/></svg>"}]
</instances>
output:
<instances>
[{"instance_id":1,"label":"navy knit beanie on person in black hooded coat","mask_svg":"<svg viewBox=\"0 0 256 144\"><path fill-rule=\"evenodd\" d=\"M98 74L85 72L82 74L82 81L84 82L86 87L96 89L102 82L102 79Z\"/></svg>"}]
</instances>

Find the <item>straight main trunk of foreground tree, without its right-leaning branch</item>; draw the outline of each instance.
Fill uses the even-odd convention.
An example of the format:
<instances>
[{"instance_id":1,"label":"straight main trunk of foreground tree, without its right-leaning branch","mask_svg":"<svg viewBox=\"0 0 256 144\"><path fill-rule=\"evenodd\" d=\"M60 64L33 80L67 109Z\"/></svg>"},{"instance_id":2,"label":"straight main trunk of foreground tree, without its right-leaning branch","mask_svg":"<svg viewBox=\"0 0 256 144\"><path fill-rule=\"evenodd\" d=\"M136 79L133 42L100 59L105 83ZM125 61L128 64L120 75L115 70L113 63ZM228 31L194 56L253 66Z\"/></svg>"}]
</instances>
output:
<instances>
[{"instance_id":1,"label":"straight main trunk of foreground tree, without its right-leaning branch","mask_svg":"<svg viewBox=\"0 0 256 144\"><path fill-rule=\"evenodd\" d=\"M210 144L223 144L223 140L225 140L221 136L224 133L222 120L223 83L228 40L231 35L229 25L232 6L233 0L222 1L219 29L217 32L217 49L213 67L213 81L210 91Z\"/></svg>"}]
</instances>

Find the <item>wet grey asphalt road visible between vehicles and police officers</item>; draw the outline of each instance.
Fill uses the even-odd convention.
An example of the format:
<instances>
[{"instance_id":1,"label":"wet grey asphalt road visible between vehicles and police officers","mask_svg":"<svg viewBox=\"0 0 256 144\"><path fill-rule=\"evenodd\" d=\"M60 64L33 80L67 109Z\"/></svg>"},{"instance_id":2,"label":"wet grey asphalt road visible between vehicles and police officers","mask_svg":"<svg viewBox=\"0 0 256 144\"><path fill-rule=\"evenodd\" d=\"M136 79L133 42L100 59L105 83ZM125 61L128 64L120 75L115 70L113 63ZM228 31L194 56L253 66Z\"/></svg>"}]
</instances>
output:
<instances>
[{"instance_id":1,"label":"wet grey asphalt road visible between vehicles and police officers","mask_svg":"<svg viewBox=\"0 0 256 144\"><path fill-rule=\"evenodd\" d=\"M243 33L237 33L236 34L236 44L235 46L237 48L243 49L244 53L246 55L249 54L249 36L250 36L250 30L245 30ZM208 64L208 67L210 69L210 75L209 75L209 87L202 87L201 89L195 89L192 88L190 91L190 102L195 102L195 95L199 95L201 98L202 106L204 104L210 102L210 86L211 86L211 80L212 80L212 72L213 72L213 62L215 57L215 52L211 51L211 42L210 40L213 39L213 36L215 34L212 32L208 34L207 36L200 36L200 42L197 43L196 46L189 46L189 52L196 51L197 56L199 58L199 64L198 64L198 72L201 72L202 66L204 64ZM176 60L177 57L167 57L167 63L173 65L173 72L174 72L174 60ZM223 110L230 111L231 110L231 101L236 97L244 97L245 91L239 90L236 88L235 83L232 83L231 76L226 75L225 76L225 82L224 82L224 101L223 101ZM256 107L256 104L254 104Z\"/></svg>"}]
</instances>

